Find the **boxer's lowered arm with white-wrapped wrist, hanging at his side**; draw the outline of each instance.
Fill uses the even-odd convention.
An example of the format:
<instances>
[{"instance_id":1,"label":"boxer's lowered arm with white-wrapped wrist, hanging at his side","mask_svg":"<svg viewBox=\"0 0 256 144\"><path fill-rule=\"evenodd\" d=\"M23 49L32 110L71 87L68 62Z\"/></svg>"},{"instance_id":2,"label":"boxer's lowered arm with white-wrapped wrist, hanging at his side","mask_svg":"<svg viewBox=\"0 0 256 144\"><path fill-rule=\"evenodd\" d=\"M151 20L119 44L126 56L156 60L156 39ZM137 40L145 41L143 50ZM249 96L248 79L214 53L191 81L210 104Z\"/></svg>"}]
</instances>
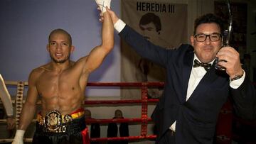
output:
<instances>
[{"instance_id":1,"label":"boxer's lowered arm with white-wrapped wrist, hanging at his side","mask_svg":"<svg viewBox=\"0 0 256 144\"><path fill-rule=\"evenodd\" d=\"M28 128L28 125L33 120L33 116L36 112L36 101L38 97L38 91L36 89L36 79L38 77L37 70L33 70L28 78L28 93L26 102L23 104L21 111L21 118L18 124L18 130L13 141L15 143L23 143L23 135Z\"/></svg>"}]
</instances>

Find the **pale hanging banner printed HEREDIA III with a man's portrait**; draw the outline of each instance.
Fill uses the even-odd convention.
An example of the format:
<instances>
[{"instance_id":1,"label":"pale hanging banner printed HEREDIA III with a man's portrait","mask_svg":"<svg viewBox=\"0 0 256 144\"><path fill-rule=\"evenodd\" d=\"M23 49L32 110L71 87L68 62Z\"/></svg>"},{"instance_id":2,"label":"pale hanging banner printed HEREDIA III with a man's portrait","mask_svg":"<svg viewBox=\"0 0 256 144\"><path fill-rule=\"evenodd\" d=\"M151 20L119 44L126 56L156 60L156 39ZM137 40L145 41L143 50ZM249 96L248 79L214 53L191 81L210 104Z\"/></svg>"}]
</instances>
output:
<instances>
[{"instance_id":1,"label":"pale hanging banner printed HEREDIA III with a man's portrait","mask_svg":"<svg viewBox=\"0 0 256 144\"><path fill-rule=\"evenodd\" d=\"M174 49L187 43L187 5L143 0L122 0L122 20L149 41ZM122 82L164 82L165 70L135 53L122 41ZM162 90L149 89L150 98ZM122 89L122 99L140 99L140 89Z\"/></svg>"}]
</instances>

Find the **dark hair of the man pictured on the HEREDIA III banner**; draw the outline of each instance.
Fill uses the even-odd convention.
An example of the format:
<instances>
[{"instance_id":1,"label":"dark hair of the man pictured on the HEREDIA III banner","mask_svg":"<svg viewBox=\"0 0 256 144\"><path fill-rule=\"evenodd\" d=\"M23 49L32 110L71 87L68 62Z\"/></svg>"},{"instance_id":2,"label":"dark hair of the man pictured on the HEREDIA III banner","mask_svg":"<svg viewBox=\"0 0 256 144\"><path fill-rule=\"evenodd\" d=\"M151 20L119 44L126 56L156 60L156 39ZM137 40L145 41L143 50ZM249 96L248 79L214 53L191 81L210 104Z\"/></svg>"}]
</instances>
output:
<instances>
[{"instance_id":1,"label":"dark hair of the man pictured on the HEREDIA III banner","mask_svg":"<svg viewBox=\"0 0 256 144\"><path fill-rule=\"evenodd\" d=\"M139 26L146 25L148 23L154 23L154 26L156 26L156 32L161 31L161 21L159 16L156 16L154 13L146 13L142 16L142 18L139 21Z\"/></svg>"}]
</instances>

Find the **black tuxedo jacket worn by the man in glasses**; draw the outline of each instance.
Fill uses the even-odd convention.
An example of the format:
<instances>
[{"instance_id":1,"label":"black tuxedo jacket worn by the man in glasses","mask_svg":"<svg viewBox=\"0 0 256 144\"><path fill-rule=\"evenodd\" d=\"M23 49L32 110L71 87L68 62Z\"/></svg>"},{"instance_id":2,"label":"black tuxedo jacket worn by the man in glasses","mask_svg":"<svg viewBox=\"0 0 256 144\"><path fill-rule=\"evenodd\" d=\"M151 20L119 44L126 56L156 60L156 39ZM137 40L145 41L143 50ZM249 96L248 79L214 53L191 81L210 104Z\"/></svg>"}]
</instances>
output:
<instances>
[{"instance_id":1,"label":"black tuxedo jacket worn by the man in glasses","mask_svg":"<svg viewBox=\"0 0 256 144\"><path fill-rule=\"evenodd\" d=\"M186 101L194 57L191 45L166 50L129 26L119 35L139 55L166 68L164 94L151 115L158 131L156 143L166 143L163 135L174 121L177 144L213 143L218 113L228 96L232 96L238 116L255 118L255 88L247 76L238 89L232 89L228 74L211 67Z\"/></svg>"}]
</instances>

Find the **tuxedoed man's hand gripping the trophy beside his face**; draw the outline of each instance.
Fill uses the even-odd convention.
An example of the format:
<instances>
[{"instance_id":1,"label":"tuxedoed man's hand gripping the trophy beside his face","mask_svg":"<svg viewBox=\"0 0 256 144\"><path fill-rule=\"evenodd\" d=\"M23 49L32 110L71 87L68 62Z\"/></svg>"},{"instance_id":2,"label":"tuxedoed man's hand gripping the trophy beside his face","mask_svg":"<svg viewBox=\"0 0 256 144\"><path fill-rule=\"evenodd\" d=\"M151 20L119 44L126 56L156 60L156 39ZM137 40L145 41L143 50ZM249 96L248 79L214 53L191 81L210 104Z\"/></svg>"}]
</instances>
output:
<instances>
[{"instance_id":1,"label":"tuxedoed man's hand gripping the trophy beside his face","mask_svg":"<svg viewBox=\"0 0 256 144\"><path fill-rule=\"evenodd\" d=\"M243 70L240 63L240 55L234 48L221 48L216 57L218 57L220 61L219 65L226 68L226 72L230 76L230 79L242 75ZM226 62L223 62L222 60L225 60Z\"/></svg>"}]
</instances>

